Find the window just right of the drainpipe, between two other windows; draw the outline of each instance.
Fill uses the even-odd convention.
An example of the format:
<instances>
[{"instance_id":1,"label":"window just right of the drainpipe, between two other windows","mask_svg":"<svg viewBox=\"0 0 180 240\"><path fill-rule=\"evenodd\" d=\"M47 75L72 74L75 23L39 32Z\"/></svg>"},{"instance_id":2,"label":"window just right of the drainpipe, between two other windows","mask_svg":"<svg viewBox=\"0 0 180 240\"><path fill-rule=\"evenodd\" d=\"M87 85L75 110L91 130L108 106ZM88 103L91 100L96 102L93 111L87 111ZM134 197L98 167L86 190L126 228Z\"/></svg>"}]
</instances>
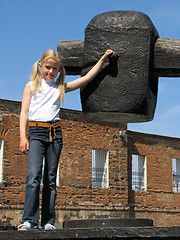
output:
<instances>
[{"instance_id":1,"label":"window just right of the drainpipe, between two other windows","mask_svg":"<svg viewBox=\"0 0 180 240\"><path fill-rule=\"evenodd\" d=\"M132 190L146 191L146 157L132 155Z\"/></svg>"}]
</instances>

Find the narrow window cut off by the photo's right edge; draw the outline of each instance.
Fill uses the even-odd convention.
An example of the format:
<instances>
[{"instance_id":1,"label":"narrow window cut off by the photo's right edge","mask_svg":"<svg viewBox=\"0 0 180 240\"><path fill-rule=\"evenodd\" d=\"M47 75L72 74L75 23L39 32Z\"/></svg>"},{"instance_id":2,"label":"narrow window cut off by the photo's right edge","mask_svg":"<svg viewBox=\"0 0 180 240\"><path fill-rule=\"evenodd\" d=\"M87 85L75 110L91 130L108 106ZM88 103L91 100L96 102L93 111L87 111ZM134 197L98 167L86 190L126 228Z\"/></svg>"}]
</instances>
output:
<instances>
[{"instance_id":1,"label":"narrow window cut off by the photo's right edge","mask_svg":"<svg viewBox=\"0 0 180 240\"><path fill-rule=\"evenodd\" d=\"M173 192L180 192L180 159L172 159Z\"/></svg>"}]
</instances>

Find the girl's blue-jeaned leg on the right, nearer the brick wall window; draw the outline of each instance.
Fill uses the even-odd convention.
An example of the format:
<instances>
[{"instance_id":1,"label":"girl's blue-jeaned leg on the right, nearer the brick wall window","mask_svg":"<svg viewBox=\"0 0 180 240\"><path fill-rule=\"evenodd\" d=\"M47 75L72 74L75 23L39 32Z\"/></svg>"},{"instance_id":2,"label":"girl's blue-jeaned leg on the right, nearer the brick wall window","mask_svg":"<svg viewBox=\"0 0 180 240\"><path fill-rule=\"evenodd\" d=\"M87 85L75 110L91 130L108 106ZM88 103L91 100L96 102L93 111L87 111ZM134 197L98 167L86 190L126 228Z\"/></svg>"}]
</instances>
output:
<instances>
[{"instance_id":1,"label":"girl's blue-jeaned leg on the right, nearer the brick wall window","mask_svg":"<svg viewBox=\"0 0 180 240\"><path fill-rule=\"evenodd\" d=\"M62 139L51 142L46 149L42 195L42 227L55 222L56 176L62 150Z\"/></svg>"}]
</instances>

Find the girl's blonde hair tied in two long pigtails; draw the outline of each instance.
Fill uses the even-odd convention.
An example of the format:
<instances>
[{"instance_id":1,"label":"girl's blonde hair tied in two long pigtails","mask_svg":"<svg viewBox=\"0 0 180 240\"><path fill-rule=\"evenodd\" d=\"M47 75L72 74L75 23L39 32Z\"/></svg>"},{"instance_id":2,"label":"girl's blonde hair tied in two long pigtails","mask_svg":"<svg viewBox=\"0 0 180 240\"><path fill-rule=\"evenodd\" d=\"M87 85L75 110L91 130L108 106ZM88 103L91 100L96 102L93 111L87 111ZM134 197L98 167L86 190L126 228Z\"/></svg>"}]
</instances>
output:
<instances>
[{"instance_id":1,"label":"girl's blonde hair tied in two long pigtails","mask_svg":"<svg viewBox=\"0 0 180 240\"><path fill-rule=\"evenodd\" d=\"M62 65L61 56L58 52L50 49L45 51L42 54L41 59L39 59L33 66L32 74L31 74L31 82L32 82L32 94L36 94L36 90L41 91L41 80L42 80L42 74L39 69L39 64L44 64L48 59L53 59L54 61L59 62L60 64L60 74L58 78L56 79L56 85L58 87L58 91L60 94L60 102L62 102L65 94L65 85L64 85L64 78L65 78L65 69Z\"/></svg>"}]
</instances>

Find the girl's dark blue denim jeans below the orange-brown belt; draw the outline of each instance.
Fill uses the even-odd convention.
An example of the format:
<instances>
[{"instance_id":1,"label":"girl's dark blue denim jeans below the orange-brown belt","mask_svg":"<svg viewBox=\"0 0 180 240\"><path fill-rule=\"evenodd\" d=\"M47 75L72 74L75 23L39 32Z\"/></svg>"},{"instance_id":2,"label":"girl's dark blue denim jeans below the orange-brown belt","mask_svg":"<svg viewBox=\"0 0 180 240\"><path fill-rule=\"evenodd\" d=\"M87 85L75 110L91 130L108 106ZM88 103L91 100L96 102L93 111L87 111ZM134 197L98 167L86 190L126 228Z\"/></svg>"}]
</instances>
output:
<instances>
[{"instance_id":1,"label":"girl's dark blue denim jeans below the orange-brown belt","mask_svg":"<svg viewBox=\"0 0 180 240\"><path fill-rule=\"evenodd\" d=\"M57 127L55 133L56 136L52 131L50 142L49 128L29 127L28 171L22 222L29 221L33 225L38 225L43 160L41 226L55 222L56 176L63 146L61 128Z\"/></svg>"}]
</instances>

